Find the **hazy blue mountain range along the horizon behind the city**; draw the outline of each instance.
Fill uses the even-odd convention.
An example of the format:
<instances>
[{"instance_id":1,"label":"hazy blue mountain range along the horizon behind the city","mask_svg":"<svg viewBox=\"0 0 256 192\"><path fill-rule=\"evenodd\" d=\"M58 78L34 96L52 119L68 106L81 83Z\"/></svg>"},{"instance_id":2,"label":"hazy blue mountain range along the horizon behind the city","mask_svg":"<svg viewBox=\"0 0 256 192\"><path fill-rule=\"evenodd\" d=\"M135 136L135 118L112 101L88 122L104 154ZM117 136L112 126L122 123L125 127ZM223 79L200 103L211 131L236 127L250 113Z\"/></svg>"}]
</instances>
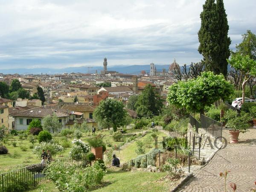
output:
<instances>
[{"instance_id":1,"label":"hazy blue mountain range along the horizon behind the city","mask_svg":"<svg viewBox=\"0 0 256 192\"><path fill-rule=\"evenodd\" d=\"M155 65L157 68L157 71L162 71L163 69L168 70L169 65ZM100 73L101 70L103 70L103 66L96 66L96 67L67 67L62 69L51 69L51 68L34 68L34 69L6 69L6 70L0 70L0 73L3 74L62 74L62 73L96 73L96 70L98 73ZM109 66L109 71L117 71L119 73L127 73L127 74L140 74L142 70L145 70L146 73L149 73L150 71L150 65L115 65L115 66Z\"/></svg>"}]
</instances>

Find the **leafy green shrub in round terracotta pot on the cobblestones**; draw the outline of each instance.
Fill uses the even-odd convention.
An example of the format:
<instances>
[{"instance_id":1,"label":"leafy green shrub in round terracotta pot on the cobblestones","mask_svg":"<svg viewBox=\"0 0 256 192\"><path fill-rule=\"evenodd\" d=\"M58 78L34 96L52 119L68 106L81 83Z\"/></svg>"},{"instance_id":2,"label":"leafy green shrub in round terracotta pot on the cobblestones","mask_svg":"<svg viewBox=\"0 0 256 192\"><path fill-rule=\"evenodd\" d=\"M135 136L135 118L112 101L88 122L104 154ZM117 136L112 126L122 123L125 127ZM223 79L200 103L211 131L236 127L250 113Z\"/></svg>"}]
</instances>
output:
<instances>
[{"instance_id":1,"label":"leafy green shrub in round terracotta pot on the cobblestones","mask_svg":"<svg viewBox=\"0 0 256 192\"><path fill-rule=\"evenodd\" d=\"M229 118L227 118L226 126L230 128L230 143L238 143L239 133L245 133L248 130L250 120L251 117L244 111L242 111L240 115L230 115Z\"/></svg>"}]
</instances>

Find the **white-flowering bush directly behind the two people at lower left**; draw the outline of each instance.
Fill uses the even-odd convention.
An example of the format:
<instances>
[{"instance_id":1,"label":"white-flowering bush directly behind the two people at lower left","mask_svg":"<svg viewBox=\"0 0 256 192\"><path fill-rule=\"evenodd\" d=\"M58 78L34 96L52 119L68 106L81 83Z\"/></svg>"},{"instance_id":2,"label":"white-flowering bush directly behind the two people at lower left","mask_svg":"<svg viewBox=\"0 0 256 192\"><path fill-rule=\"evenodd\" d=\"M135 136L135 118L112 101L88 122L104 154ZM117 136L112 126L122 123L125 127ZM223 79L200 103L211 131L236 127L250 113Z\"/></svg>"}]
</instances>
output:
<instances>
[{"instance_id":1,"label":"white-flowering bush directly behind the two people at lower left","mask_svg":"<svg viewBox=\"0 0 256 192\"><path fill-rule=\"evenodd\" d=\"M32 152L34 154L37 154L38 157L40 157L43 149L45 151L49 150L52 156L55 156L56 154L64 150L64 148L61 145L58 145L56 143L41 142L35 146Z\"/></svg>"}]
</instances>

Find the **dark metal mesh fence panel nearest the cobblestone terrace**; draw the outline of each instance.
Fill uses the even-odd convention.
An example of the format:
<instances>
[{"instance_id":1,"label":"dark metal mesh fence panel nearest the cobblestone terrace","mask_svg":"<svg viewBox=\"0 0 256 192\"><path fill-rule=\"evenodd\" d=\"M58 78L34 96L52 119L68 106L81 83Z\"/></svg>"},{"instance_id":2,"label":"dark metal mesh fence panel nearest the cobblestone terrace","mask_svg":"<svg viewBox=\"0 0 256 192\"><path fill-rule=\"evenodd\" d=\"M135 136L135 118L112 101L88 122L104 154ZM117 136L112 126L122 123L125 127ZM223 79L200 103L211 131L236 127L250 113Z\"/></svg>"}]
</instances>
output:
<instances>
[{"instance_id":1,"label":"dark metal mesh fence panel nearest the cobblestone terrace","mask_svg":"<svg viewBox=\"0 0 256 192\"><path fill-rule=\"evenodd\" d=\"M214 119L209 118L201 114L201 128L203 128L207 133L211 134L213 137L221 140L222 137L222 123Z\"/></svg>"}]
</instances>

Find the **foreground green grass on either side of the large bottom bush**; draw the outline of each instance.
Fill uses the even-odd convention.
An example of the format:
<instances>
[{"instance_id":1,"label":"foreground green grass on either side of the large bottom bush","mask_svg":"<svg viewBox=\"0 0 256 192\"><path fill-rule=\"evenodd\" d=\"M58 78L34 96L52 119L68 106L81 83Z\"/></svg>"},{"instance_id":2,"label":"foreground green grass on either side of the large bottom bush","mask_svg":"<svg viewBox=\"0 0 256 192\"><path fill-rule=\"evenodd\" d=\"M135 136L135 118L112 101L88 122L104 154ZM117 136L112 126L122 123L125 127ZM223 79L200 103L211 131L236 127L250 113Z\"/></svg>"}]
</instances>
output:
<instances>
[{"instance_id":1,"label":"foreground green grass on either side of the large bottom bush","mask_svg":"<svg viewBox=\"0 0 256 192\"><path fill-rule=\"evenodd\" d=\"M109 170L103 177L103 182L108 183L107 186L94 190L95 192L135 192L150 191L164 192L168 191L166 182L157 181L166 173L152 172L123 172L121 170ZM55 183L45 181L30 192L57 192Z\"/></svg>"}]
</instances>

